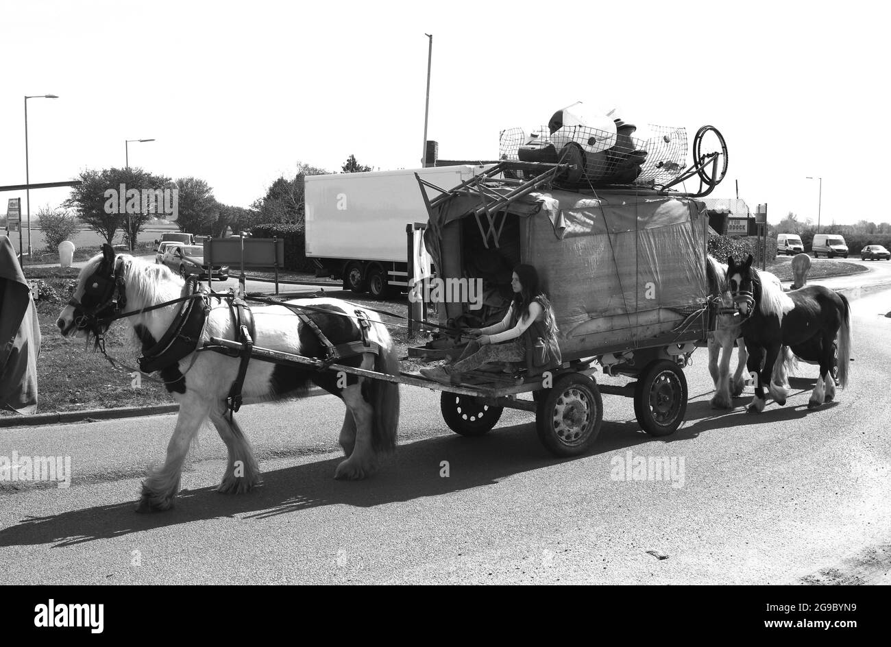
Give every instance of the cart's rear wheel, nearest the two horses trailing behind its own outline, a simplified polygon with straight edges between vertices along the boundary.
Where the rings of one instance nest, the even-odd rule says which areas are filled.
[[[680,366],[660,359],[643,369],[634,388],[634,415],[650,436],[669,436],[687,413],[687,378]]]

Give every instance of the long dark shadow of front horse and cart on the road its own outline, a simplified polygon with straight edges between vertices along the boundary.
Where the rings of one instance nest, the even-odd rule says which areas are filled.
[[[615,452],[650,437],[637,422],[604,422],[590,455]],[[266,519],[324,505],[370,507],[494,486],[500,479],[552,467],[583,456],[558,459],[548,454],[535,435],[535,425],[496,428],[482,438],[457,435],[425,438],[396,449],[372,479],[333,479],[341,457],[266,471],[261,487],[246,495],[220,495],[214,487],[183,490],[176,508],[136,514],[134,500],[99,505],[45,517],[28,517],[0,530],[0,546],[53,544],[60,548],[95,539],[125,536],[156,528],[222,517]],[[440,476],[443,462],[449,476]],[[222,476],[222,468],[220,468]]]

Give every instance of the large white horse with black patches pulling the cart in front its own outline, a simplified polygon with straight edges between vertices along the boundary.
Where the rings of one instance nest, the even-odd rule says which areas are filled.
[[[65,337],[74,336],[98,342],[110,323],[123,318],[133,332],[134,349],[155,348],[168,338],[171,323],[183,303],[147,310],[147,308],[180,299],[184,279],[166,266],[154,265],[141,258],[115,256],[110,246],[102,246],[102,254],[87,261],[80,271],[73,298],[59,315],[57,325]],[[362,340],[362,331],[351,316],[356,306],[338,299],[297,299],[290,304],[311,308],[308,317],[331,344]],[[210,298],[203,331],[196,337],[196,348],[209,338],[236,340],[238,327],[225,299]],[[323,340],[305,323],[295,309],[284,306],[250,308],[254,320],[254,343],[293,355],[326,357]],[[380,317],[363,313],[370,321],[365,332],[380,348],[379,353],[364,352],[343,358],[339,364],[350,365],[389,375],[399,374],[396,348]],[[193,438],[208,419],[213,422],[228,449],[229,460],[218,490],[225,493],[247,492],[260,481],[257,459],[248,439],[231,416],[227,416],[226,398],[230,395],[239,370],[240,359],[214,352],[192,352],[173,364],[164,366],[160,377],[168,391],[179,402],[176,429],[170,439],[167,460],[151,470],[143,482],[139,512],[167,510],[179,489],[183,463]],[[310,383],[331,392],[347,405],[340,430],[339,443],[347,455],[339,463],[338,479],[363,479],[375,469],[381,453],[396,446],[399,422],[398,384],[353,374],[338,376],[331,371],[312,367],[269,364],[251,360],[244,375],[241,393],[253,401],[299,397]]]

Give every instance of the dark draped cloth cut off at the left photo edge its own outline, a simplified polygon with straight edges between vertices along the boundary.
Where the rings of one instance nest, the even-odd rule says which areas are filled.
[[[0,235],[0,408],[37,410],[40,325],[8,236]]]

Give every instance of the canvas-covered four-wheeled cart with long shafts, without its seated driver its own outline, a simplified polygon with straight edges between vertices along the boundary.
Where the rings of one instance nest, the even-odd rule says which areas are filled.
[[[539,438],[560,456],[579,455],[593,445],[604,393],[634,398],[642,430],[670,435],[687,408],[683,367],[714,329],[707,297],[708,221],[696,198],[720,181],[726,166],[719,171],[718,163],[725,160],[726,149],[703,154],[676,174],[673,184],[699,176],[698,193],[652,184],[561,190],[560,174],[573,168],[566,163],[503,161],[453,189],[418,178],[429,212],[424,238],[437,266],[435,280],[478,280],[483,299],[476,309],[460,299],[441,303],[438,322],[424,323],[438,332],[424,346],[410,348],[410,356],[429,360],[460,352],[462,326],[500,320],[511,268],[529,263],[547,286],[560,328],[563,362],[543,375],[497,366],[445,384],[417,373],[386,375],[265,348],[253,347],[251,356],[439,390],[446,424],[463,436],[492,430],[504,408],[534,412]],[[430,200],[425,186],[437,197]],[[208,349],[234,352],[243,346],[215,338]],[[595,375],[601,371],[631,381],[600,384]],[[524,393],[532,399],[520,398]]]

